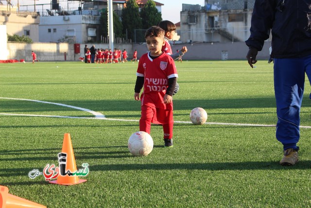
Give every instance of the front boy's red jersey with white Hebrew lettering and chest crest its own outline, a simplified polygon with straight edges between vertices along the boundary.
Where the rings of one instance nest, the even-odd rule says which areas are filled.
[[[140,57],[136,75],[144,77],[141,105],[173,110],[173,102],[165,104],[163,100],[169,78],[178,77],[172,57],[162,53],[159,57],[152,59],[150,53],[144,54]]]

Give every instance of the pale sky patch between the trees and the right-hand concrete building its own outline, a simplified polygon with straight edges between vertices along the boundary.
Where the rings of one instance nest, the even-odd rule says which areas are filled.
[[[200,4],[204,6],[204,0],[155,0],[156,2],[163,3],[162,6],[162,19],[170,20],[173,23],[180,21],[180,12],[182,10],[182,4]]]

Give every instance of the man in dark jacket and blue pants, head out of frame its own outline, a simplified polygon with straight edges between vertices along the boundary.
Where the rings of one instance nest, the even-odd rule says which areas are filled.
[[[276,139],[282,143],[281,165],[298,162],[300,107],[305,73],[311,80],[311,0],[256,0],[251,20],[247,61],[253,68],[256,56],[272,29]]]

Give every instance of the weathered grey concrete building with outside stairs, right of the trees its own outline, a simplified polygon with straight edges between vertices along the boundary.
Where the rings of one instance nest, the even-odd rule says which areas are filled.
[[[250,33],[255,0],[205,0],[205,5],[183,4],[182,42],[235,42]]]

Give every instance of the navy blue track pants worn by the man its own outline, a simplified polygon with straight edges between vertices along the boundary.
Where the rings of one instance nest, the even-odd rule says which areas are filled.
[[[284,150],[297,149],[305,73],[311,80],[311,56],[275,58],[276,139]]]

